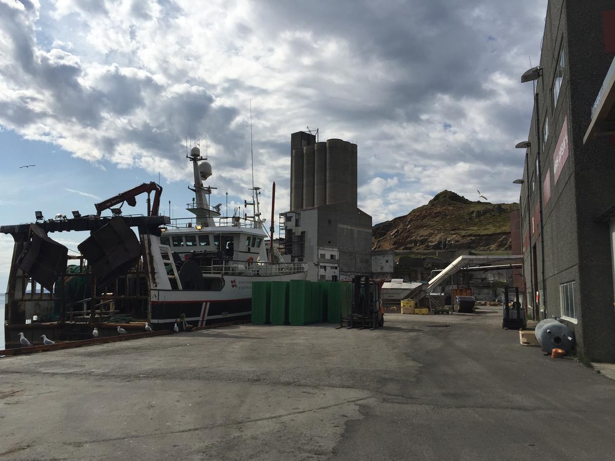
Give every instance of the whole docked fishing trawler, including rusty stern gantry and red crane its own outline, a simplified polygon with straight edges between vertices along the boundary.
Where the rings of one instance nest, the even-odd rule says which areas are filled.
[[[261,218],[261,189],[250,189],[252,201],[244,202],[243,215],[236,208],[223,216],[221,205],[210,205],[216,188],[203,183],[212,176],[211,164],[199,146],[186,158],[194,173],[189,218],[159,215],[162,187],[152,182],[96,203],[95,215],[73,211],[73,218],[44,219],[37,211],[34,223],[0,226],[15,240],[5,296],[7,342],[14,336],[10,331],[37,322],[90,328],[130,318],[172,329],[175,323],[186,328],[250,320],[252,282],[306,278],[304,263],[284,261],[271,245],[272,226],[269,233]],[[143,193],[147,215],[123,215],[122,206],[134,207]],[[105,210],[111,216],[103,216]],[[76,255],[50,237],[82,230],[90,237]]]

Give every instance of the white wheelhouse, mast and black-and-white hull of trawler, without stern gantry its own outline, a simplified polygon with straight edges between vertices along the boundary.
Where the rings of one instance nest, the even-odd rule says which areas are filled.
[[[253,187],[253,213],[221,216],[208,197],[213,187],[202,181],[212,175],[212,167],[191,149],[195,199],[186,209],[194,218],[172,219],[161,235],[141,235],[148,248],[151,323],[158,328],[184,318],[192,325],[248,318],[254,280],[293,280],[306,278],[303,263],[284,262],[275,246],[273,254],[265,245],[269,235],[260,215],[260,189]]]

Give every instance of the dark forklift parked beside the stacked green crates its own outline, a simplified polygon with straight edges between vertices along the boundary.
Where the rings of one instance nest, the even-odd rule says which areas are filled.
[[[362,280],[363,279],[363,280]],[[384,307],[380,301],[378,282],[370,281],[368,275],[357,275],[352,279],[352,302],[347,317],[341,317],[339,328],[376,329],[384,325]]]

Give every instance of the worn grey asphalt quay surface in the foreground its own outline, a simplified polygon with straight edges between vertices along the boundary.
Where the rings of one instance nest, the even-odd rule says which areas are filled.
[[[610,460],[614,429],[615,381],[495,307],[0,358],[0,460]]]

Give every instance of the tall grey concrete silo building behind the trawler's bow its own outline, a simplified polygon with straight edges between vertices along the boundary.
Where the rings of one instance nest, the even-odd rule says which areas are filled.
[[[280,213],[280,243],[308,263],[308,280],[371,274],[371,216],[357,208],[357,144],[313,133],[290,138],[290,211]]]

